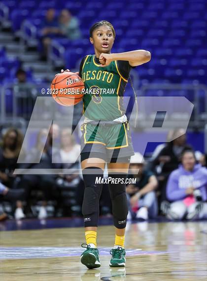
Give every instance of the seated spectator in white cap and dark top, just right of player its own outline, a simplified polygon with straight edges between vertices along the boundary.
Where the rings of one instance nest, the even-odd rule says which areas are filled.
[[[138,208],[136,212],[136,218],[138,219],[147,220],[148,217],[156,217],[158,207],[155,189],[158,182],[151,171],[144,169],[143,156],[139,153],[135,153],[131,157],[129,178],[136,179],[136,184],[128,184],[126,186],[126,192],[130,201],[128,219],[134,215],[133,209],[136,210],[136,208]]]

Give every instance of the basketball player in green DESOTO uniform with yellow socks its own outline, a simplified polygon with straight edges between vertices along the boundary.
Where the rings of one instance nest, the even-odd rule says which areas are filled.
[[[108,175],[113,179],[108,186],[115,226],[109,265],[125,266],[124,240],[128,214],[125,180],[134,150],[123,107],[123,94],[130,70],[151,58],[150,52],[145,50],[111,53],[114,39],[115,31],[109,22],[95,23],[90,29],[90,42],[94,45],[95,54],[85,56],[79,69],[85,89],[98,89],[95,94],[83,97],[85,120],[81,126],[81,167],[85,184],[82,214],[86,238],[86,244],[82,244],[86,250],[81,255],[81,263],[89,269],[101,266],[97,225],[103,183],[96,183],[96,178],[103,179],[105,163]],[[107,94],[101,89],[114,89],[114,92]]]

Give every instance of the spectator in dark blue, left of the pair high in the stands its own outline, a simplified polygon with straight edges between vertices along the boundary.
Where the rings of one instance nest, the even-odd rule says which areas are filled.
[[[55,15],[55,9],[50,8],[46,12],[45,19],[41,24],[41,37],[43,43],[43,55],[42,59],[46,59],[48,46],[50,44],[51,38],[59,36],[61,30],[59,27],[58,19]]]

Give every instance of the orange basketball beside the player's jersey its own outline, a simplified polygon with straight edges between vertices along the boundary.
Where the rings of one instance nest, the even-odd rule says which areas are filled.
[[[83,98],[83,80],[73,72],[63,72],[52,80],[51,94],[54,100],[64,106],[72,106]]]

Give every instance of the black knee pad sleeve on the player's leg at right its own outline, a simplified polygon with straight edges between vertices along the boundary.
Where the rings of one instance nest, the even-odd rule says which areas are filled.
[[[112,179],[123,179],[123,183],[122,181],[117,184],[109,182],[108,187],[112,202],[114,226],[117,228],[125,228],[127,223],[127,215],[129,211],[125,184],[127,174],[113,173],[109,174],[109,176],[112,177]]]

